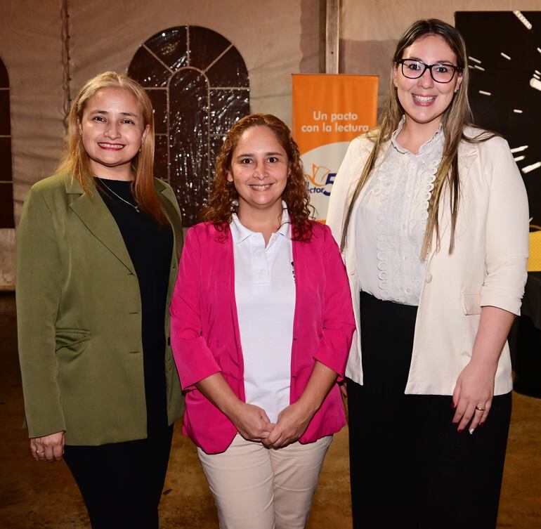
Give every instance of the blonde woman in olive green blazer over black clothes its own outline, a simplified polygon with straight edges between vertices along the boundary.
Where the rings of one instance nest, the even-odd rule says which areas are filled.
[[[72,105],[60,170],[32,186],[17,233],[32,455],[64,455],[95,529],[157,528],[181,415],[168,310],[181,217],[152,176],[153,126],[135,81],[91,79]]]

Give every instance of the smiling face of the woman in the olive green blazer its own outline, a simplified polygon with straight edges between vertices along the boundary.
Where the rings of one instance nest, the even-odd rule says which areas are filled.
[[[93,174],[132,180],[131,162],[148,129],[141,107],[130,91],[115,87],[99,89],[86,102],[79,122]]]

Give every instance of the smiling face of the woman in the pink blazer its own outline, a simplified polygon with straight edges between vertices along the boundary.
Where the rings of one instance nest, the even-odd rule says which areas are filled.
[[[246,129],[227,174],[239,195],[239,217],[255,211],[281,211],[288,173],[289,160],[275,133],[268,126]]]

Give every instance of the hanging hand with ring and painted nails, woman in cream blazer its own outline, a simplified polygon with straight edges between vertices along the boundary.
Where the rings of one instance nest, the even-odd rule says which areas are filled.
[[[496,366],[472,358],[457,379],[452,403],[456,407],[452,422],[463,431],[469,424],[469,433],[474,433],[478,424],[483,425],[490,412],[494,396]]]

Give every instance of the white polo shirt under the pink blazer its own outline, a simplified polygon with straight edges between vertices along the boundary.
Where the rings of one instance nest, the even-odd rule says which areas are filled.
[[[282,206],[280,229],[266,247],[263,234],[235,214],[230,223],[246,402],[263,408],[271,422],[289,405],[295,311],[291,225]]]

